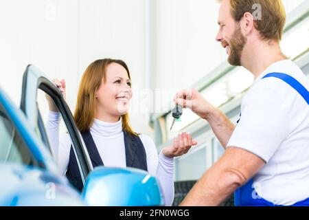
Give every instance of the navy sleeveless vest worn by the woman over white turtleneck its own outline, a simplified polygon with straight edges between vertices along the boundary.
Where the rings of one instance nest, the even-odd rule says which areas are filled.
[[[95,166],[104,166],[90,131],[83,132],[82,139],[87,147],[93,168],[95,168]],[[126,166],[148,171],[146,151],[141,139],[138,136],[130,135],[124,131],[124,147],[126,151]],[[72,146],[69,157],[69,166],[67,167],[67,173],[65,175],[76,189],[82,191],[84,186],[82,184],[82,177],[80,176],[80,170],[78,169],[78,163]]]

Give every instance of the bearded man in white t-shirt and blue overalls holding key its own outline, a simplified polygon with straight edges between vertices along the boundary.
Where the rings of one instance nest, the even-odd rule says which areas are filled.
[[[242,100],[237,126],[195,89],[176,94],[174,101],[207,120],[225,148],[181,206],[218,206],[234,191],[240,206],[309,205],[309,82],[279,47],[282,1],[220,3],[216,40],[229,63],[249,69],[255,82]]]

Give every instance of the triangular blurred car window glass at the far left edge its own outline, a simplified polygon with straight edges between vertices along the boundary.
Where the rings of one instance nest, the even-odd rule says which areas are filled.
[[[14,124],[10,120],[0,104],[0,163],[23,164],[26,166],[38,166],[38,162],[32,155],[27,144],[19,135]]]

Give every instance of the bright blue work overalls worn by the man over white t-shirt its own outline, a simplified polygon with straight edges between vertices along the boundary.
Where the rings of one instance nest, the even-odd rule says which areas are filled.
[[[262,79],[269,77],[275,77],[284,80],[284,82],[293,87],[304,98],[304,100],[306,100],[307,104],[309,105],[309,91],[295,78],[287,74],[271,73],[267,74]],[[255,192],[255,189],[253,187],[253,178],[250,179],[247,184],[238,188],[234,192],[235,206],[277,206],[271,201],[267,201],[266,199],[258,196],[257,192]],[[293,204],[293,206],[309,206],[309,198],[303,201],[299,201]]]

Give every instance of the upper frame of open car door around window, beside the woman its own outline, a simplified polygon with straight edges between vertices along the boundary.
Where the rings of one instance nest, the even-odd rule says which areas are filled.
[[[49,151],[52,152],[41,113],[38,110],[37,95],[39,90],[49,95],[56,104],[56,107],[58,107],[63,121],[65,122],[65,126],[67,127],[67,132],[71,137],[72,147],[76,155],[82,182],[85,184],[85,179],[91,170],[93,170],[93,166],[67,102],[65,102],[60,90],[45,76],[45,74],[43,74],[43,72],[34,67],[34,65],[28,65],[23,75],[21,110],[27,116],[32,129],[36,131],[38,137],[41,138],[47,148],[49,148]]]

